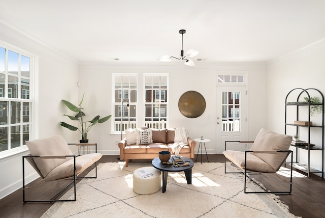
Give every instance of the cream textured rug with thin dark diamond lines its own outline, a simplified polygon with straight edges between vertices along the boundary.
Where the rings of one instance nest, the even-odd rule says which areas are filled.
[[[42,217],[295,217],[274,195],[244,194],[243,179],[224,174],[223,163],[195,163],[192,184],[183,172],[169,173],[165,193],[138,195],[132,174],[146,166],[103,163],[97,179],[77,184],[77,201],[56,202]]]

